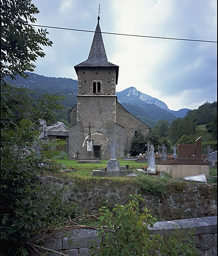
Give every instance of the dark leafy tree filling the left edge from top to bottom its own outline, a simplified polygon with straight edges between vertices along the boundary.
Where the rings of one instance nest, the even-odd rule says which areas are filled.
[[[39,175],[60,168],[51,160],[56,152],[49,150],[60,142],[41,143],[40,153],[25,152],[25,147],[39,143],[34,130],[39,118],[56,120],[55,110],[63,108],[57,103],[61,98],[45,94],[33,100],[29,90],[4,82],[5,76],[26,77],[25,71],[35,67],[31,61],[44,57],[39,44],[51,41],[45,31],[36,32],[27,24],[38,13],[31,1],[1,0],[1,11],[1,255],[27,255],[22,242],[54,221],[73,218],[75,205],[65,206],[57,190],[40,187]]]

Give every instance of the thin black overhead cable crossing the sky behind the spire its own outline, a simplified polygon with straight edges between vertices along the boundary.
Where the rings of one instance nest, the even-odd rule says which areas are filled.
[[[63,30],[73,30],[73,31],[82,31],[82,32],[92,32],[95,33],[96,31],[92,30],[82,30],[82,29],[67,29],[67,28],[60,28],[57,26],[44,26],[44,25],[34,25],[29,24],[31,26],[40,26],[42,28],[49,28],[49,29],[63,29]],[[158,38],[158,39],[169,39],[169,40],[181,40],[181,41],[194,41],[194,42],[207,42],[207,43],[217,43],[217,41],[209,41],[209,40],[196,40],[196,39],[184,39],[184,38],[165,38],[163,36],[150,36],[150,35],[133,35],[133,34],[121,34],[121,33],[111,33],[111,32],[98,32],[102,34],[112,34],[112,35],[127,35],[127,36],[137,36],[141,38]]]

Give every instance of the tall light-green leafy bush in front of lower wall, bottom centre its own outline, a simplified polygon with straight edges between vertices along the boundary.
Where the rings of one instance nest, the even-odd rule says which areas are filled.
[[[106,230],[98,229],[103,242],[97,255],[149,255],[143,254],[144,247],[152,249],[147,226],[153,226],[156,218],[146,208],[140,213],[138,200],[143,198],[131,195],[127,205],[115,205],[112,212],[100,209],[99,223]]]

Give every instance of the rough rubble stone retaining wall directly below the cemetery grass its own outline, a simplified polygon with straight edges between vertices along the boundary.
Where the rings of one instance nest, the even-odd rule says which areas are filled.
[[[165,195],[149,195],[135,186],[115,186],[108,179],[102,179],[101,185],[91,186],[85,181],[76,184],[74,180],[52,176],[42,178],[44,184],[58,187],[68,186],[64,194],[67,202],[76,202],[86,214],[97,214],[99,208],[112,209],[115,204],[125,205],[130,195],[141,194],[144,202],[140,208],[147,207],[157,220],[171,221],[183,218],[197,218],[217,215],[216,184],[181,181],[172,185]]]

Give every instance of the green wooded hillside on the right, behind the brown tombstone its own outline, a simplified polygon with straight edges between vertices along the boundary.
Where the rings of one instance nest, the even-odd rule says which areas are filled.
[[[167,151],[172,152],[174,145],[194,144],[200,136],[202,152],[207,145],[213,151],[217,150],[217,102],[206,102],[189,111],[185,117],[176,118],[171,124],[166,120],[158,120],[145,141],[150,141],[155,150],[164,143]]]

